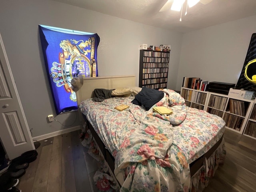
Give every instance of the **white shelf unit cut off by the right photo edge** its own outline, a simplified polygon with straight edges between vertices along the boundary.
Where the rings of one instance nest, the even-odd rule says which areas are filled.
[[[250,112],[250,116],[244,130],[244,135],[256,139],[256,100],[254,101]]]

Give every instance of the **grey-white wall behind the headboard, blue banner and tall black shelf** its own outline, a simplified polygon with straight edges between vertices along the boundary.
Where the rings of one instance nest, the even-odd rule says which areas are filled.
[[[0,32],[16,86],[33,136],[64,128],[48,123],[55,114],[52,94],[42,56],[38,25],[56,26],[98,33],[98,73],[100,76],[136,74],[138,85],[140,44],[170,44],[168,88],[176,87],[182,34],[116,18],[51,0],[4,0],[0,5]],[[56,117],[66,125],[74,122],[74,112]],[[78,125],[78,120],[72,126]]]

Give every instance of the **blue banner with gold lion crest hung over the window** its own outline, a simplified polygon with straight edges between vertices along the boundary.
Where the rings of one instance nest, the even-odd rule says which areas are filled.
[[[83,34],[84,33],[84,34]],[[77,109],[73,77],[97,77],[98,34],[39,25],[42,51],[56,113]]]

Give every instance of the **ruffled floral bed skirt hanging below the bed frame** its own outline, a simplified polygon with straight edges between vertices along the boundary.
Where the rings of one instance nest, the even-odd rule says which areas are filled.
[[[102,154],[96,140],[94,139],[91,131],[84,127],[81,133],[81,142],[83,146],[89,148],[88,154],[101,162],[101,168],[94,175],[94,182],[100,192],[103,191],[119,191],[120,184],[116,180],[113,174],[113,170],[106,162],[105,154]],[[226,156],[226,148],[224,145],[224,138],[218,148],[212,153],[210,157],[204,158],[204,163],[201,168],[190,179],[190,192],[201,192],[206,186],[208,186],[210,178],[214,176],[219,164],[224,163]]]

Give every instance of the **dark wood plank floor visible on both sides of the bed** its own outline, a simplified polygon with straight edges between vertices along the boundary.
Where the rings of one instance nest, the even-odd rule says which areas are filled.
[[[18,188],[22,192],[97,192],[93,175],[99,165],[87,154],[78,131],[40,141]],[[224,134],[225,164],[219,166],[205,192],[256,192],[256,140],[231,130]]]

